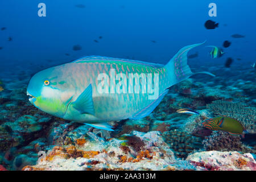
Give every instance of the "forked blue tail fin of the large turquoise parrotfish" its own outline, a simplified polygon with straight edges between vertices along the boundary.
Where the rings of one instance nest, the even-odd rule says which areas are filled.
[[[177,52],[176,55],[172,57],[172,59],[166,65],[164,65],[163,68],[166,69],[167,76],[170,81],[170,86],[177,84],[178,82],[183,81],[191,77],[192,75],[197,74],[192,73],[191,69],[187,64],[187,53],[190,49],[201,46],[205,42],[181,48],[180,51]],[[209,72],[198,73],[204,73],[210,76],[214,76],[212,73]]]

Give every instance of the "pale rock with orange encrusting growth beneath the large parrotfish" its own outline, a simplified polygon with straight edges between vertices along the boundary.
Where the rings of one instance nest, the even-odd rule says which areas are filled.
[[[89,150],[100,148],[98,146],[101,144],[93,140],[88,140],[80,149],[72,145],[65,148],[55,146],[45,159],[35,166],[23,167],[23,170],[168,170],[170,166],[175,169],[174,154],[158,131],[133,131],[125,139],[130,150],[119,150],[123,140],[117,139],[105,142],[104,147],[98,151]],[[134,139],[140,140],[143,147],[135,150],[134,143],[131,143]],[[94,147],[95,144],[97,147]]]

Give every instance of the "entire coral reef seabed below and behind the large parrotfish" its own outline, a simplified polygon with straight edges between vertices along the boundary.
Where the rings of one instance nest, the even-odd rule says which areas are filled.
[[[201,69],[217,76],[195,75],[171,86],[147,117],[109,122],[114,131],[65,121],[32,106],[27,72],[1,77],[0,170],[255,169],[255,71],[242,65],[236,68],[239,74],[217,66],[193,72]],[[200,114],[176,113],[181,108]],[[219,115],[236,118],[250,134],[241,138],[201,126]],[[43,151],[46,158],[38,161]]]

